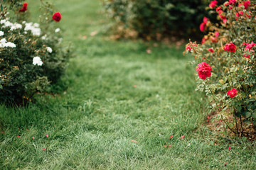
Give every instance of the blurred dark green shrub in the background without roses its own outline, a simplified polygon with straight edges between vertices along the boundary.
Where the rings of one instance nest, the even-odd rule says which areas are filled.
[[[209,1],[206,0],[105,0],[104,6],[117,26],[134,29],[139,37],[159,35],[201,35],[199,25]]]

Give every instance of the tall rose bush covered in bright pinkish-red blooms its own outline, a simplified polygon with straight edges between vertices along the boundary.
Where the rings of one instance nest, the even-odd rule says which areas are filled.
[[[256,1],[211,1],[209,6],[220,22],[203,21],[200,28],[208,33],[201,44],[186,46],[186,52],[194,55],[193,63],[201,63],[196,69],[196,90],[206,92],[210,111],[217,111],[231,132],[252,137],[256,132]]]

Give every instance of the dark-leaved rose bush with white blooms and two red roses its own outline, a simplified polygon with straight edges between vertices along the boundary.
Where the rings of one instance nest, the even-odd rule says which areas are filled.
[[[39,23],[27,21],[29,5],[0,1],[0,102],[22,105],[50,91],[65,73],[70,50],[61,46],[60,12],[41,1]],[[13,12],[15,15],[9,15]],[[44,18],[44,19],[43,19]]]

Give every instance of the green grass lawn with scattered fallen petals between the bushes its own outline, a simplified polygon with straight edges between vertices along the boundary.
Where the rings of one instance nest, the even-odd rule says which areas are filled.
[[[143,42],[109,40],[99,1],[54,4],[75,49],[68,89],[26,108],[0,106],[1,169],[255,169],[255,147],[201,125],[206,103],[182,50],[159,45],[149,55]]]

